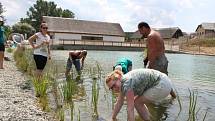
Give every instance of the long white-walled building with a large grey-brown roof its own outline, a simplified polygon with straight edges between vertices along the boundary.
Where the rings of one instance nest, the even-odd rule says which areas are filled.
[[[125,33],[118,23],[75,20],[72,18],[43,16],[48,32],[55,44],[59,40],[87,40],[124,42]]]

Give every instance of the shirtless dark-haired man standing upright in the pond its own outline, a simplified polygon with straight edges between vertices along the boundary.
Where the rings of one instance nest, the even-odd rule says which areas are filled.
[[[161,35],[152,30],[146,22],[138,24],[138,30],[146,40],[147,57],[144,63],[148,62],[148,68],[159,70],[168,74],[168,60],[165,56],[165,46]]]

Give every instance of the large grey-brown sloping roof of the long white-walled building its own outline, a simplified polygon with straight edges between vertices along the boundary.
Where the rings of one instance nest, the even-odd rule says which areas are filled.
[[[76,20],[72,18],[43,16],[49,32],[125,36],[119,23]]]

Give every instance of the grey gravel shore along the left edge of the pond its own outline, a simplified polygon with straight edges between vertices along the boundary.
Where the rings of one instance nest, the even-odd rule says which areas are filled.
[[[5,55],[11,61],[4,61],[4,69],[0,69],[0,121],[55,120],[38,107],[32,88],[23,88],[27,79],[16,68],[12,54],[5,52]]]

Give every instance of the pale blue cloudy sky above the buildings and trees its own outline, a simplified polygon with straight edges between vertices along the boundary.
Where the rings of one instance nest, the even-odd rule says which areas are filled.
[[[141,21],[152,28],[179,27],[195,32],[203,22],[215,23],[215,0],[47,0],[75,13],[75,19],[119,23],[134,32]],[[36,0],[0,0],[7,25],[25,18]]]

